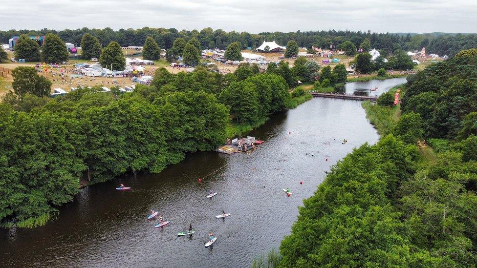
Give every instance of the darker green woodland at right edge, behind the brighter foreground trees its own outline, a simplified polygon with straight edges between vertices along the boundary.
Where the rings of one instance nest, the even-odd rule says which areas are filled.
[[[408,78],[402,110],[421,115],[428,137],[464,139],[477,134],[477,126],[461,132],[464,125],[476,124],[472,116],[477,111],[476,70],[477,49],[428,66]]]

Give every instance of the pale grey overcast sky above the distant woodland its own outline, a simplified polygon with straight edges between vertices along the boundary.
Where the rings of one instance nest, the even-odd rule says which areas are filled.
[[[0,30],[477,32],[477,0],[0,0]]]

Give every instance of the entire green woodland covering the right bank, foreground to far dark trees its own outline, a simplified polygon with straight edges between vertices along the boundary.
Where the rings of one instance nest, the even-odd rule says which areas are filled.
[[[279,266],[476,267],[476,70],[469,50],[410,77],[390,134],[354,149],[304,200]],[[423,139],[434,158],[418,151]]]

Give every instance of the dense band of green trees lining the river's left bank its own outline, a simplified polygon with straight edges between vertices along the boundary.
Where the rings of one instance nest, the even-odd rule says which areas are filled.
[[[259,124],[290,100],[278,74],[239,79],[203,67],[178,74],[159,68],[152,85],[137,85],[132,93],[98,86],[56,99],[40,97],[35,86],[25,90],[16,78],[15,94],[0,103],[3,226],[44,221],[72,200],[80,178],[94,184],[130,171],[160,172],[185,153],[211,150],[236,125]]]

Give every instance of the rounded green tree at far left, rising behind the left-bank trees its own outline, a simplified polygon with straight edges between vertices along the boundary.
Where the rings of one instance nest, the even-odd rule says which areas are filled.
[[[22,98],[25,94],[33,94],[38,97],[49,96],[51,82],[44,76],[37,74],[33,67],[20,66],[12,71],[13,91]]]

